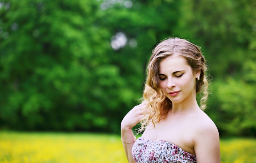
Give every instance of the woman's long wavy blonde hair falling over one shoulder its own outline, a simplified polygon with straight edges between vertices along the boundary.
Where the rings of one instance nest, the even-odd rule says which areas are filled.
[[[155,126],[155,123],[166,118],[168,111],[172,109],[171,100],[166,97],[164,90],[160,88],[158,75],[159,62],[170,55],[184,57],[193,71],[201,71],[200,80],[196,81],[195,90],[196,93],[201,94],[200,108],[202,110],[206,108],[209,84],[206,75],[206,60],[200,47],[181,38],[167,38],[155,47],[148,63],[146,84],[141,98],[141,101],[145,101],[148,106],[144,112],[145,117],[140,121],[139,133],[145,130],[149,121],[152,121]]]

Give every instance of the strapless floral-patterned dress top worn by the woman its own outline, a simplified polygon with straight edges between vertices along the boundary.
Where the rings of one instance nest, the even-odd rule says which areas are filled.
[[[138,138],[132,146],[136,163],[196,163],[192,154],[167,141]]]

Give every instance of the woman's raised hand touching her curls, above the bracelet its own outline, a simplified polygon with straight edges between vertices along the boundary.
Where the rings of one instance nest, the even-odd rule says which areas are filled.
[[[131,129],[144,117],[144,109],[147,106],[146,102],[135,106],[130,110],[121,122],[121,129]]]

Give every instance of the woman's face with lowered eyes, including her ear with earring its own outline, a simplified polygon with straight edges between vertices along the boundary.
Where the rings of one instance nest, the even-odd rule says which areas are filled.
[[[180,55],[171,55],[159,62],[159,84],[173,104],[194,100],[197,76],[200,71],[195,73]]]

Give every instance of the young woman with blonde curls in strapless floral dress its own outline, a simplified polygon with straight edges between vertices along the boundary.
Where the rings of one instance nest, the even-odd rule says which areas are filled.
[[[121,122],[129,163],[220,163],[219,133],[204,113],[207,66],[200,48],[168,38],[153,50],[143,102]],[[196,94],[201,93],[200,107]],[[132,127],[141,123],[137,140]]]

